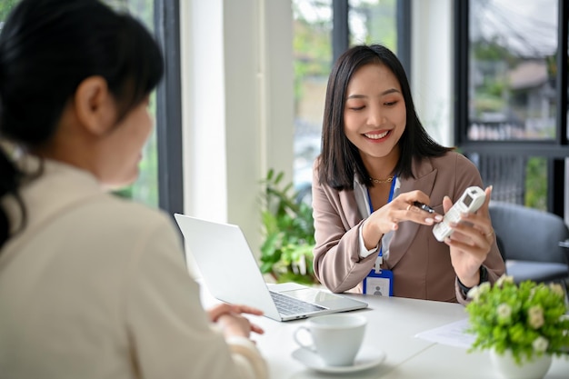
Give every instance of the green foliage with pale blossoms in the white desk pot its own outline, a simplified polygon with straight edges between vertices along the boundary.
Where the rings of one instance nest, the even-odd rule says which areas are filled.
[[[543,354],[561,355],[569,347],[569,317],[565,314],[564,290],[560,284],[517,285],[502,276],[494,285],[474,287],[466,305],[469,333],[475,334],[469,351],[511,351],[516,364]]]

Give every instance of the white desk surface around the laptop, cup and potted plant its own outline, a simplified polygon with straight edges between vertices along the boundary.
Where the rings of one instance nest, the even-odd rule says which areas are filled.
[[[467,317],[464,306],[424,300],[349,294],[369,304],[353,311],[367,317],[365,345],[376,346],[386,354],[383,364],[351,374],[322,374],[307,369],[291,354],[298,347],[294,329],[305,320],[280,323],[266,317],[251,316],[265,334],[254,335],[269,364],[272,379],[314,378],[498,378],[487,353],[466,353],[464,348],[435,344],[414,335]],[[212,303],[205,294],[205,304]],[[548,379],[569,379],[569,358],[554,358]]]

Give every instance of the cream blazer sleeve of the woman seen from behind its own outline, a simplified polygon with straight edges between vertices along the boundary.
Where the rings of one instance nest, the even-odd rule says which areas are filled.
[[[225,340],[210,323],[187,271],[174,226],[146,231],[125,281],[125,323],[136,370],[145,378],[267,377],[247,338]]]

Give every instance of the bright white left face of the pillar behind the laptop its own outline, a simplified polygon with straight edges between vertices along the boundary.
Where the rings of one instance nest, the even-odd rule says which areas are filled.
[[[185,214],[225,221],[223,2],[180,5]]]

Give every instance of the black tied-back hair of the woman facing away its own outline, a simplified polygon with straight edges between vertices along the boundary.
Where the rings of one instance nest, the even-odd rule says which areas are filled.
[[[145,27],[98,0],[23,0],[0,33],[0,139],[25,148],[50,141],[65,104],[85,78],[105,78],[119,120],[160,81],[162,53]],[[118,121],[118,120],[117,120]],[[0,147],[0,199],[25,177]],[[10,222],[0,207],[0,246]]]

